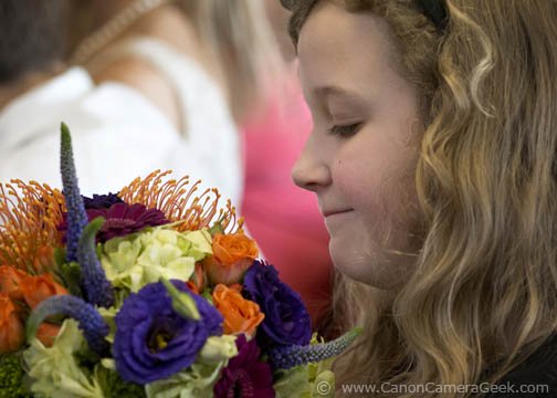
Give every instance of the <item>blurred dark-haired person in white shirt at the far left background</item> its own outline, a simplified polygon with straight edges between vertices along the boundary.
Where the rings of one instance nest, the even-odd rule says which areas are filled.
[[[176,128],[127,85],[64,63],[67,2],[0,3],[0,181],[61,186],[60,123],[73,130],[83,193],[115,191],[180,160]]]

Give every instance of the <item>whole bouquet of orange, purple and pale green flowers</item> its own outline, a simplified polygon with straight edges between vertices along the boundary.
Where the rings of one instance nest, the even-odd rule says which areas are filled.
[[[299,295],[258,260],[230,201],[155,171],[80,195],[0,185],[0,397],[327,397],[330,360]]]

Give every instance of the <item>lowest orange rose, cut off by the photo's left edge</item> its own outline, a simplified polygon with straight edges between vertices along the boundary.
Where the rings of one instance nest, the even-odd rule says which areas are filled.
[[[6,292],[0,292],[0,355],[17,350],[23,344],[25,329],[15,304]]]

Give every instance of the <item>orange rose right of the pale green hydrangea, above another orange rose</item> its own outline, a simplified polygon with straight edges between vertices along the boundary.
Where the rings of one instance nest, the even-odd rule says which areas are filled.
[[[231,285],[240,282],[244,272],[259,255],[253,239],[242,231],[231,234],[217,233],[212,242],[213,255],[203,260],[211,283]]]

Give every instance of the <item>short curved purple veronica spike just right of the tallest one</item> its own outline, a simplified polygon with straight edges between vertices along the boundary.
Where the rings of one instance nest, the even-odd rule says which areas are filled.
[[[97,306],[109,307],[114,303],[114,291],[95,251],[95,234],[104,221],[102,217],[97,217],[85,227],[77,247],[77,260],[82,271],[85,300]]]

